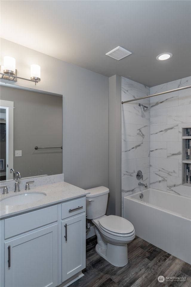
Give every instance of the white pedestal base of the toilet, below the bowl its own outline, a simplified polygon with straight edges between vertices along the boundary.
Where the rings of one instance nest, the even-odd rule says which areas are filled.
[[[113,245],[107,243],[107,248],[102,248],[96,244],[96,252],[116,267],[123,267],[128,263],[127,244]]]

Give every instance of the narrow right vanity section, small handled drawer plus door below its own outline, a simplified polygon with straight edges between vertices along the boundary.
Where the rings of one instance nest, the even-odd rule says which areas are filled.
[[[61,205],[62,282],[86,266],[86,201],[74,199]]]

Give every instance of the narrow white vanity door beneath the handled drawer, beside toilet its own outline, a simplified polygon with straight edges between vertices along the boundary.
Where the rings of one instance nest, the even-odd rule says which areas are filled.
[[[86,266],[85,213],[62,222],[62,282]]]

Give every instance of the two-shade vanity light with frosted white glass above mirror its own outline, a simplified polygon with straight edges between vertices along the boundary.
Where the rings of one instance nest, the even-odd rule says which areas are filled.
[[[36,85],[41,80],[41,67],[39,65],[31,65],[30,79],[17,77],[16,60],[13,57],[5,56],[3,73],[0,74],[2,75],[1,78],[5,80],[16,81],[15,79],[21,79],[34,82]]]

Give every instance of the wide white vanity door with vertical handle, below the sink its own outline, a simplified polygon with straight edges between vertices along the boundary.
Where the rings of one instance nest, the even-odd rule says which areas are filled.
[[[55,287],[57,270],[57,224],[6,241],[5,287]]]

